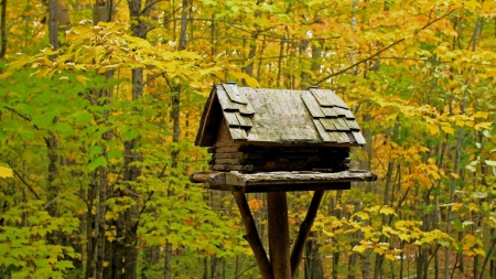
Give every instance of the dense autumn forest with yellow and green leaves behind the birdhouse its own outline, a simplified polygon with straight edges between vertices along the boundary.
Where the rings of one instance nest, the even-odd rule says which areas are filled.
[[[495,1],[0,2],[0,278],[260,278],[188,181],[228,81],[333,89],[367,140],[378,180],[325,193],[296,278],[496,278]]]

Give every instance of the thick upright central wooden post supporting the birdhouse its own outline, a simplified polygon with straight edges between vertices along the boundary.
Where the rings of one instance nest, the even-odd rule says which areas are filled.
[[[291,278],[288,202],[285,192],[267,193],[269,254],[274,279]]]

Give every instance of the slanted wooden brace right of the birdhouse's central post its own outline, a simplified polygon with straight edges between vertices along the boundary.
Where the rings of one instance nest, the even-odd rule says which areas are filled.
[[[315,193],[313,193],[312,202],[310,202],[305,219],[300,225],[300,230],[298,232],[298,236],[293,245],[293,250],[291,251],[291,278],[294,278],[294,276],[296,275],[298,267],[300,266],[303,258],[305,243],[309,238],[310,230],[312,229],[313,222],[315,221],[323,196],[324,191],[315,191]]]

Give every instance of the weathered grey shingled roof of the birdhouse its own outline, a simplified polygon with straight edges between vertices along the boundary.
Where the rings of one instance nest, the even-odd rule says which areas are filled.
[[[348,106],[328,89],[215,85],[205,104],[195,143],[214,146],[223,118],[235,141],[343,147],[366,143]]]

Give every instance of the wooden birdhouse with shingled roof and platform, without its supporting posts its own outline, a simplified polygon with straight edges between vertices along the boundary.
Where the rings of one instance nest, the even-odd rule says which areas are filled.
[[[349,189],[363,174],[347,171],[349,148],[366,142],[355,116],[332,90],[228,83],[214,86],[195,143],[209,148],[211,169],[219,172],[211,175],[212,189],[273,192]],[[336,173],[342,178],[330,184]]]

